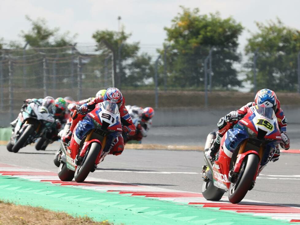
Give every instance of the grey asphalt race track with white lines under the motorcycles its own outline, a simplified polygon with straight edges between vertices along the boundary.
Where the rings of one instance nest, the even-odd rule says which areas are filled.
[[[296,126],[290,126],[296,130]],[[195,127],[152,128],[143,143],[203,144],[206,132],[212,128]],[[177,132],[182,131],[182,132]],[[167,132],[169,133],[167,135]],[[170,135],[171,133],[171,135]],[[172,135],[176,134],[176,135]],[[299,142],[296,132],[290,132],[292,146]],[[200,137],[197,139],[197,136]],[[299,145],[298,145],[299,146]],[[28,146],[19,153],[10,153],[0,147],[1,163],[25,168],[57,171],[52,162],[58,144],[46,151]],[[295,148],[295,147],[294,147]],[[299,149],[299,148],[297,148]],[[300,154],[281,154],[279,161],[270,162],[258,177],[254,189],[245,198],[275,204],[300,207]],[[108,155],[90,177],[147,185],[160,188],[201,192],[203,152],[166,150],[125,150],[120,156]]]

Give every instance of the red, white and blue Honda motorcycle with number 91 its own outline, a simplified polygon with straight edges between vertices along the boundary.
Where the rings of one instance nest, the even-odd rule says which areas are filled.
[[[75,178],[76,182],[83,182],[104,160],[122,133],[118,106],[111,101],[98,103],[77,126],[80,123],[91,129],[81,140],[78,152],[70,151],[65,143],[60,142],[58,177],[61,181]]]

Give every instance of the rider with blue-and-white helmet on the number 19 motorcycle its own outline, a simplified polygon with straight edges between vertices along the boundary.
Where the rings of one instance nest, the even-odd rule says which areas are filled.
[[[215,158],[215,154],[220,148],[220,143],[223,135],[232,127],[230,127],[229,123],[240,120],[243,116],[247,114],[247,110],[254,106],[264,104],[266,107],[272,107],[274,109],[275,115],[277,117],[282,142],[280,146],[288,150],[290,148],[290,139],[287,136],[287,118],[285,117],[283,110],[280,108],[280,102],[277,99],[277,96],[274,91],[269,89],[262,89],[257,92],[254,102],[249,102],[247,105],[244,105],[237,111],[229,112],[226,116],[221,117],[217,126],[218,132],[216,139],[213,140],[212,147],[208,151],[206,151],[206,156],[210,159]],[[279,159],[280,150],[278,146],[276,147],[275,154],[271,158],[272,162],[275,162]]]

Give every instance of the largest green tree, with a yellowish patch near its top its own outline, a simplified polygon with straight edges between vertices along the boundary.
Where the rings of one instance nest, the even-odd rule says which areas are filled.
[[[237,54],[238,37],[243,27],[232,17],[222,19],[219,13],[201,15],[199,9],[181,6],[182,12],[172,20],[167,32],[169,84],[199,87],[204,80],[204,59],[213,51],[213,86],[240,86],[233,63]],[[161,52],[162,53],[162,52]]]

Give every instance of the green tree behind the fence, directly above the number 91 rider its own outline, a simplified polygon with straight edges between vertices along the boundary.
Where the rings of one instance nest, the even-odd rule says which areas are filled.
[[[151,57],[145,54],[138,55],[139,42],[132,44],[126,42],[130,36],[130,33],[125,33],[124,28],[121,32],[98,30],[93,34],[100,50],[106,52],[106,54],[107,51],[113,54],[113,69],[116,86],[118,87],[123,84],[127,86],[142,85],[144,79],[149,77],[152,72],[149,69]],[[121,61],[119,61],[119,58]],[[120,66],[118,73],[117,64]]]

